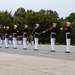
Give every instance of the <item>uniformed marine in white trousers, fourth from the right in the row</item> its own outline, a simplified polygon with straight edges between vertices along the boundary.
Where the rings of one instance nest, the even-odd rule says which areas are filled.
[[[23,50],[27,50],[27,34],[28,34],[28,25],[25,25],[23,29]]]

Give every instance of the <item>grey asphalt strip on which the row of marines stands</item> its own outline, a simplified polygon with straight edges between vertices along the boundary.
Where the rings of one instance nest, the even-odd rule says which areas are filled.
[[[5,45],[3,44],[2,48],[0,48],[0,52],[64,60],[75,60],[75,46],[71,46],[71,53],[65,53],[66,45],[56,45],[56,52],[50,52],[50,45],[39,45],[38,48],[38,51],[35,51],[34,46],[28,44],[27,50],[23,50],[23,45],[17,45],[17,49],[13,49],[13,45],[9,44],[9,48],[6,49]]]

